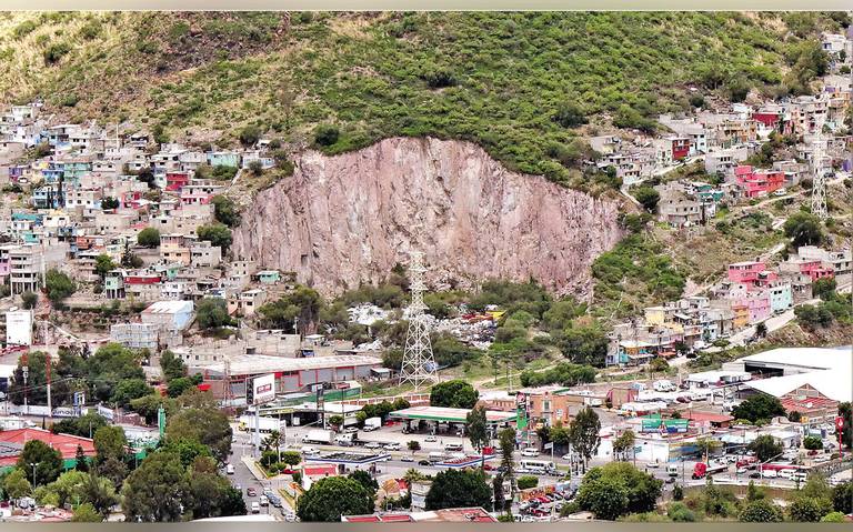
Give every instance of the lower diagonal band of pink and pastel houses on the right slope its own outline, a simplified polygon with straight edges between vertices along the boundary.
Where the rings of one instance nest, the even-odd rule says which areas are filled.
[[[643,317],[618,324],[610,333],[608,365],[640,365],[680,350],[699,349],[813,298],[819,279],[853,274],[851,250],[804,245],[771,269],[763,261],[729,264],[726,279],[709,297],[695,295],[648,307]]]

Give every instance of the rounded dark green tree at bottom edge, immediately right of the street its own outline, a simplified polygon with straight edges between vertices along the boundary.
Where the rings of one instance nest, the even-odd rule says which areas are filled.
[[[297,515],[302,522],[337,523],[341,515],[373,512],[373,499],[357,480],[329,476],[314,482],[297,500]]]

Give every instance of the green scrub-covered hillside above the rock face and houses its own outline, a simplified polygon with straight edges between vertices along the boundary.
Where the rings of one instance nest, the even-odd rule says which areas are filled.
[[[806,91],[803,38],[836,27],[820,13],[6,13],[0,93],[160,140],[234,141],[247,124],[298,148],[332,126],[327,154],[471,140],[512,171],[589,189],[579,135],[652,129],[692,86],[709,102]]]

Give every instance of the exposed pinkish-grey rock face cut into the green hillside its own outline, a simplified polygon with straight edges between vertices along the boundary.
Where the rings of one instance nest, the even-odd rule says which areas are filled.
[[[395,138],[302,154],[244,212],[233,251],[327,293],[379,282],[418,249],[436,285],[532,277],[588,295],[590,264],[622,238],[618,208],[513,173],[469,142]]]

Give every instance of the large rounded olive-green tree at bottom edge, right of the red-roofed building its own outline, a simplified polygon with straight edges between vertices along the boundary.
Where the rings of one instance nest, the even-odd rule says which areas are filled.
[[[121,490],[121,505],[128,521],[180,521],[183,508],[190,506],[185,471],[175,454],[157,452],[145,458]]]

